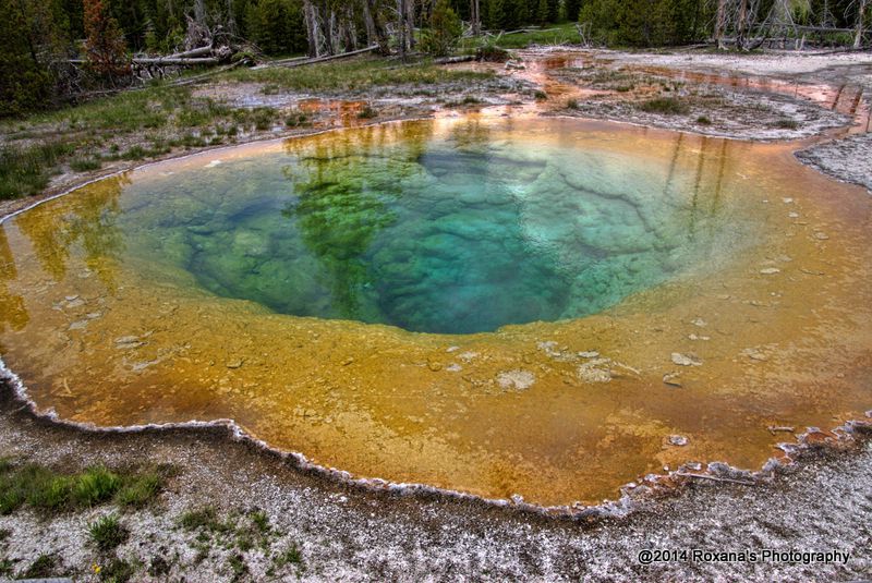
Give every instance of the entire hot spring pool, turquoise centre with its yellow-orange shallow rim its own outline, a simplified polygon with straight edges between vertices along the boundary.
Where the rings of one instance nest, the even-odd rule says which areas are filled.
[[[869,409],[869,218],[783,145],[524,118],[325,133],[3,222],[0,350],[62,418],[232,418],[360,477],[591,502],[683,461],[759,467],[767,427]]]

